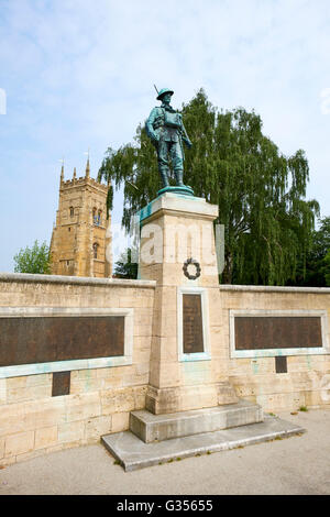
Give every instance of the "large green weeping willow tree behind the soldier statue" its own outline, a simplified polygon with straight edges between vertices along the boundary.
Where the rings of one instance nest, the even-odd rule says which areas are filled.
[[[262,132],[262,120],[243,108],[218,111],[201,89],[183,119],[193,148],[186,152],[184,183],[195,196],[219,206],[224,224],[222,283],[284,285],[294,280],[297,257],[306,256],[316,200],[307,201],[309,167],[304,151],[284,156]],[[134,142],[108,148],[99,170],[119,188],[124,184],[123,226],[161,188],[155,148],[143,127]],[[172,178],[170,183],[174,179]],[[108,204],[112,207],[112,188]]]

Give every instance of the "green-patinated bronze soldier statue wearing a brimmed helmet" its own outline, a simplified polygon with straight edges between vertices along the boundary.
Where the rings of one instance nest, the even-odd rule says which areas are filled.
[[[163,88],[158,92],[157,100],[162,101],[162,106],[152,110],[145,123],[146,133],[157,150],[158,170],[163,188],[169,187],[168,156],[172,160],[176,185],[178,187],[186,187],[183,183],[185,160],[183,142],[189,148],[193,145],[185,130],[180,113],[169,105],[173,94],[174,91],[168,88]]]

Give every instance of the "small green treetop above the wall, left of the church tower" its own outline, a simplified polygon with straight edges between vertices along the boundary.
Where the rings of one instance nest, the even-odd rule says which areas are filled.
[[[32,248],[21,249],[13,257],[15,273],[51,273],[50,248],[45,242],[34,242]]]

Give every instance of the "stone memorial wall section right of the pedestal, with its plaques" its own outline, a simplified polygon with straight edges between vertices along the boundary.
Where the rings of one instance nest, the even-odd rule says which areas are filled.
[[[330,289],[220,286],[230,381],[266,411],[330,406]]]

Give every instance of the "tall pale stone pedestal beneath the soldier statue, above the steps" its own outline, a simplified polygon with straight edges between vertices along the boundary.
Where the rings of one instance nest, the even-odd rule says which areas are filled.
[[[157,282],[146,395],[156,415],[238,402],[220,338],[217,217],[218,206],[170,193],[141,211],[140,277]]]

